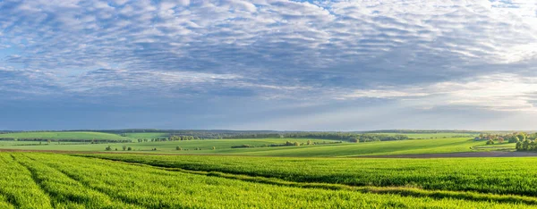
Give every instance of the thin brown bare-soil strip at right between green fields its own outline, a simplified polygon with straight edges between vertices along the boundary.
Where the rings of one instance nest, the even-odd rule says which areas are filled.
[[[533,152],[466,152],[466,153],[444,153],[444,154],[410,154],[410,155],[367,155],[354,156],[357,158],[448,158],[448,157],[524,157],[537,156]]]

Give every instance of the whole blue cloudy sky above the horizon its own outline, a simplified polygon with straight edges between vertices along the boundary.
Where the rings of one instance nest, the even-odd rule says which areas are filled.
[[[535,0],[0,0],[0,130],[537,130]]]

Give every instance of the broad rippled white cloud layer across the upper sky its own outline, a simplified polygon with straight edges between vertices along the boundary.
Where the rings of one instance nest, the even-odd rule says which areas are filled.
[[[65,94],[227,89],[260,98],[444,96],[444,104],[532,108],[524,94],[535,86],[516,79],[537,70],[529,64],[537,59],[534,1],[73,0],[0,9],[2,45],[18,49],[6,66],[50,73],[46,87]],[[100,68],[123,70],[83,73]],[[40,77],[17,77],[40,81],[32,78]]]

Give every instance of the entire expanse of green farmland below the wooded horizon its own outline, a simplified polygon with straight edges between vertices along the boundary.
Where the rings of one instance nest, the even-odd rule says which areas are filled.
[[[3,134],[18,138],[0,141],[0,207],[537,208],[537,158],[389,158],[515,153],[514,143],[453,134],[371,142]],[[86,141],[97,136],[117,140]]]

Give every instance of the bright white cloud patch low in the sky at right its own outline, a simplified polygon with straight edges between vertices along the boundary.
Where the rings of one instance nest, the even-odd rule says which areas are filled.
[[[416,108],[473,106],[495,111],[537,112],[537,77],[493,74],[424,87],[356,90],[343,98],[387,98]]]

